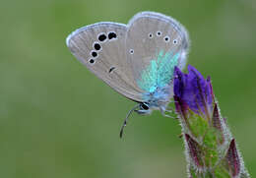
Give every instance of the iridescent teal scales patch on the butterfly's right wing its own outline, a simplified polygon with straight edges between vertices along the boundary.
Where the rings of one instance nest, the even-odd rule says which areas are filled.
[[[150,65],[142,72],[141,79],[137,81],[138,86],[147,91],[154,92],[156,89],[164,88],[170,84],[173,78],[174,67],[178,65],[179,52],[174,54],[164,53],[163,50],[153,59]]]

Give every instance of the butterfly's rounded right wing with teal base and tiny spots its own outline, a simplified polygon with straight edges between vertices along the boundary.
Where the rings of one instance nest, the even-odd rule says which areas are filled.
[[[153,92],[172,85],[174,66],[183,68],[188,34],[175,20],[153,12],[134,16],[128,24],[126,55],[140,89]]]

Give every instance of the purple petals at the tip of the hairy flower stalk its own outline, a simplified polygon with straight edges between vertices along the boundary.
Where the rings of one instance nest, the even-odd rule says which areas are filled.
[[[197,114],[210,117],[213,111],[213,89],[210,78],[207,80],[192,66],[188,66],[188,74],[177,67],[174,70],[174,99],[177,111],[184,112],[188,108]],[[180,110],[181,109],[181,110]]]

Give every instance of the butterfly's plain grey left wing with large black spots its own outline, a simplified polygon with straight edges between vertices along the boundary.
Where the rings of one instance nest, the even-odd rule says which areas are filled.
[[[124,96],[141,101],[125,58],[126,25],[97,23],[72,32],[67,46],[99,79]]]

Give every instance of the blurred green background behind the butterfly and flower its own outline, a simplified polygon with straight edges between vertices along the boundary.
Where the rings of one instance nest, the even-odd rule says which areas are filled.
[[[211,75],[251,175],[256,174],[255,0],[10,0],[0,7],[0,177],[186,177],[177,120],[134,105],[70,53],[66,36],[157,11],[190,33],[189,63]]]

